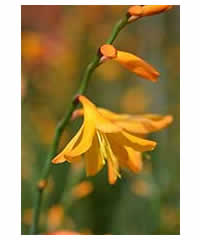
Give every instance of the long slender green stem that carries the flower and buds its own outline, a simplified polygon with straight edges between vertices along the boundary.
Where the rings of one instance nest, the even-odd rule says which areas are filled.
[[[125,16],[122,18],[119,22],[116,23],[114,26],[110,37],[106,41],[107,44],[112,44],[116,37],[118,36],[119,32],[128,24],[128,17]],[[94,72],[94,70],[99,66],[100,63],[100,54],[96,54],[94,58],[92,59],[91,63],[87,66],[83,78],[80,83],[79,90],[77,91],[78,94],[84,94],[85,90],[87,89],[89,79]],[[63,130],[65,129],[66,125],[70,121],[71,115],[73,111],[76,109],[78,105],[77,101],[72,101],[67,113],[65,114],[64,118],[61,120],[61,122],[58,123],[56,130],[55,130],[55,135],[52,143],[51,150],[48,154],[48,157],[46,159],[46,163],[44,166],[44,169],[42,171],[42,176],[39,180],[39,184],[37,186],[37,192],[36,192],[36,197],[35,197],[35,203],[34,203],[34,208],[33,208],[33,223],[31,226],[30,234],[37,234],[38,233],[38,224],[39,224],[39,219],[40,219],[40,211],[41,211],[41,201],[42,201],[42,195],[44,192],[44,189],[46,188],[47,185],[47,180],[48,176],[52,167],[51,160],[55,155],[57,154],[57,149],[58,149],[58,144],[60,141],[60,138],[62,136]],[[45,183],[44,185],[40,185],[40,183],[43,182]]]

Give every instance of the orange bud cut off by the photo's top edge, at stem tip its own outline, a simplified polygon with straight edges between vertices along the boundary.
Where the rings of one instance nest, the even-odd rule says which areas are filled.
[[[130,15],[129,22],[140,17],[166,12],[171,8],[172,5],[133,5],[128,9],[128,14]]]

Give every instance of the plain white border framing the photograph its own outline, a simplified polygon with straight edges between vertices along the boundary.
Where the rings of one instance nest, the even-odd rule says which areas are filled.
[[[199,239],[200,79],[198,1],[30,0],[1,3],[1,218],[2,239],[66,239],[67,236],[20,236],[20,5],[181,5],[181,236],[70,236],[70,239]]]

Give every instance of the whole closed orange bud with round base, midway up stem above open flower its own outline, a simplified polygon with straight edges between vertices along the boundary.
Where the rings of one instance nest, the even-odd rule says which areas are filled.
[[[142,58],[139,58],[131,53],[119,51],[110,44],[104,44],[101,46],[100,53],[103,56],[101,59],[102,61],[112,59],[120,63],[129,71],[140,77],[151,80],[152,82],[156,82],[157,78],[160,76],[159,72]]]

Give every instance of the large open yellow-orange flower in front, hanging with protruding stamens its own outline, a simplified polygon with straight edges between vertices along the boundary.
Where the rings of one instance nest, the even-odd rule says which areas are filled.
[[[138,160],[138,154],[153,150],[156,142],[126,131],[106,116],[109,111],[105,113],[103,110],[103,113],[98,110],[86,97],[78,96],[77,100],[83,105],[83,124],[52,162],[73,162],[80,160],[84,154],[88,176],[97,174],[107,162],[110,184],[114,184],[117,177],[120,177],[120,166],[128,167],[134,172],[140,171],[142,162]]]

